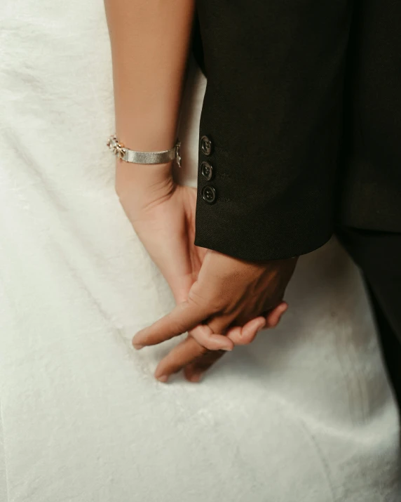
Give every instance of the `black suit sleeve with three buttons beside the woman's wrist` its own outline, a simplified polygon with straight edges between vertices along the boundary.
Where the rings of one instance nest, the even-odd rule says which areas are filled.
[[[313,251],[333,232],[351,0],[197,10],[208,85],[195,244],[245,260]]]

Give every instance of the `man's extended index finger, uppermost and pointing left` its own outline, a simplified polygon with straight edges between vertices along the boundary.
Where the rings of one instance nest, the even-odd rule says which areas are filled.
[[[210,315],[205,307],[191,300],[179,303],[169,314],[138,331],[132,338],[132,345],[140,349],[145,345],[156,345],[186,331],[190,331]]]

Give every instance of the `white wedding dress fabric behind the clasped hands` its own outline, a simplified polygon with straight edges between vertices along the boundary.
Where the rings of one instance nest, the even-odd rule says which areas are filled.
[[[114,192],[102,2],[0,11],[0,501],[396,502],[398,425],[360,276],[299,260],[278,329],[203,383],[158,383],[174,305]],[[205,79],[180,136],[196,184]]]

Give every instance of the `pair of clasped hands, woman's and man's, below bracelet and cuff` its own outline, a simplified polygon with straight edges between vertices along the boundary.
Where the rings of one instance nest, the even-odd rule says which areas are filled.
[[[156,369],[167,381],[180,369],[198,381],[224,351],[250,343],[274,327],[287,309],[282,302],[296,258],[247,262],[193,244],[196,189],[177,185],[170,165],[126,166],[119,160],[116,192],[138,237],[168,281],[177,307],[133,338],[135,348],[181,333]]]

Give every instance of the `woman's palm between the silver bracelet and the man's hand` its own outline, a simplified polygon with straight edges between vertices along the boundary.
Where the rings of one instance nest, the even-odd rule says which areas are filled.
[[[137,236],[179,302],[198,276],[206,250],[192,244],[196,189],[177,185],[170,171],[170,164],[120,164],[116,192]]]

